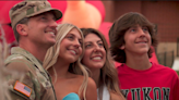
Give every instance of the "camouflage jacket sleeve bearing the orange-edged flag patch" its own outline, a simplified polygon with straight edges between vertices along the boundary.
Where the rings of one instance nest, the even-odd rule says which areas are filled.
[[[7,65],[9,71],[19,73],[14,77],[13,74],[9,76],[9,90],[12,100],[38,100],[35,96],[34,75],[32,74],[31,65],[23,61],[12,61]]]

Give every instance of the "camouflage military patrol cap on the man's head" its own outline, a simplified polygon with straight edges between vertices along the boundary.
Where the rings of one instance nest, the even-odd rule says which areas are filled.
[[[62,17],[61,11],[51,8],[47,0],[26,0],[15,4],[10,10],[11,26],[14,28],[15,24],[24,17],[35,16],[48,11],[52,11],[56,20]]]

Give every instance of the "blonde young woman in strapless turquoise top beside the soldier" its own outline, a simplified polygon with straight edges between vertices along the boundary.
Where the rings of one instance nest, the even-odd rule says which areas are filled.
[[[81,64],[84,52],[82,32],[72,24],[61,24],[57,28],[56,41],[47,51],[44,67],[51,75],[57,99],[97,100],[96,85]]]

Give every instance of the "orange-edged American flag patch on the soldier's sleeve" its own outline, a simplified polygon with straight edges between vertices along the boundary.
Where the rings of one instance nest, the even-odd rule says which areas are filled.
[[[29,88],[28,86],[26,86],[25,84],[16,80],[15,85],[14,85],[14,90],[29,97],[32,93],[32,88]]]

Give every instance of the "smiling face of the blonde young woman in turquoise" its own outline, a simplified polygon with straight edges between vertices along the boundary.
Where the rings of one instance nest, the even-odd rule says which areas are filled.
[[[72,28],[60,43],[59,60],[68,63],[75,62],[82,54],[82,36],[76,28]]]

